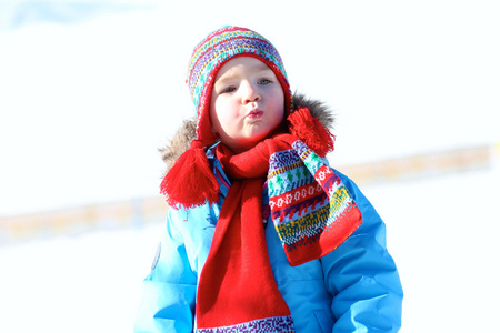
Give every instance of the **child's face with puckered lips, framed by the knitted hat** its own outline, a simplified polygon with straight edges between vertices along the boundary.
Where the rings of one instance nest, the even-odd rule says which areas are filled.
[[[252,57],[226,62],[216,77],[210,122],[234,153],[253,148],[283,120],[284,94],[274,72]]]

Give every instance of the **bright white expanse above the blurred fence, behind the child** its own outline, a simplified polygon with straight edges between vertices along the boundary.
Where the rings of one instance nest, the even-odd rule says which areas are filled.
[[[224,24],[270,39],[292,88],[334,108],[333,165],[500,140],[497,1],[326,3],[176,1],[0,30],[0,215],[157,195],[157,148],[192,111],[191,50]]]

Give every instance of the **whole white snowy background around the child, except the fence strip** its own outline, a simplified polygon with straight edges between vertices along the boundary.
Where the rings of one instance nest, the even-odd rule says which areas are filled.
[[[0,216],[158,195],[209,31],[280,50],[334,108],[333,165],[500,142],[497,1],[0,1]],[[362,190],[388,226],[401,332],[500,332],[497,160]],[[0,332],[130,332],[161,221],[0,245]]]

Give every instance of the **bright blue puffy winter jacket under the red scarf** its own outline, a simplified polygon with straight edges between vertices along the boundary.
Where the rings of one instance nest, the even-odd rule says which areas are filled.
[[[143,281],[136,332],[193,332],[198,279],[230,183],[211,150],[208,157],[218,170],[220,201],[168,211],[157,261]],[[336,172],[357,202],[363,223],[331,253],[290,266],[269,219],[266,239],[278,289],[299,333],[398,332],[402,289],[386,249],[384,223],[358,186]]]

